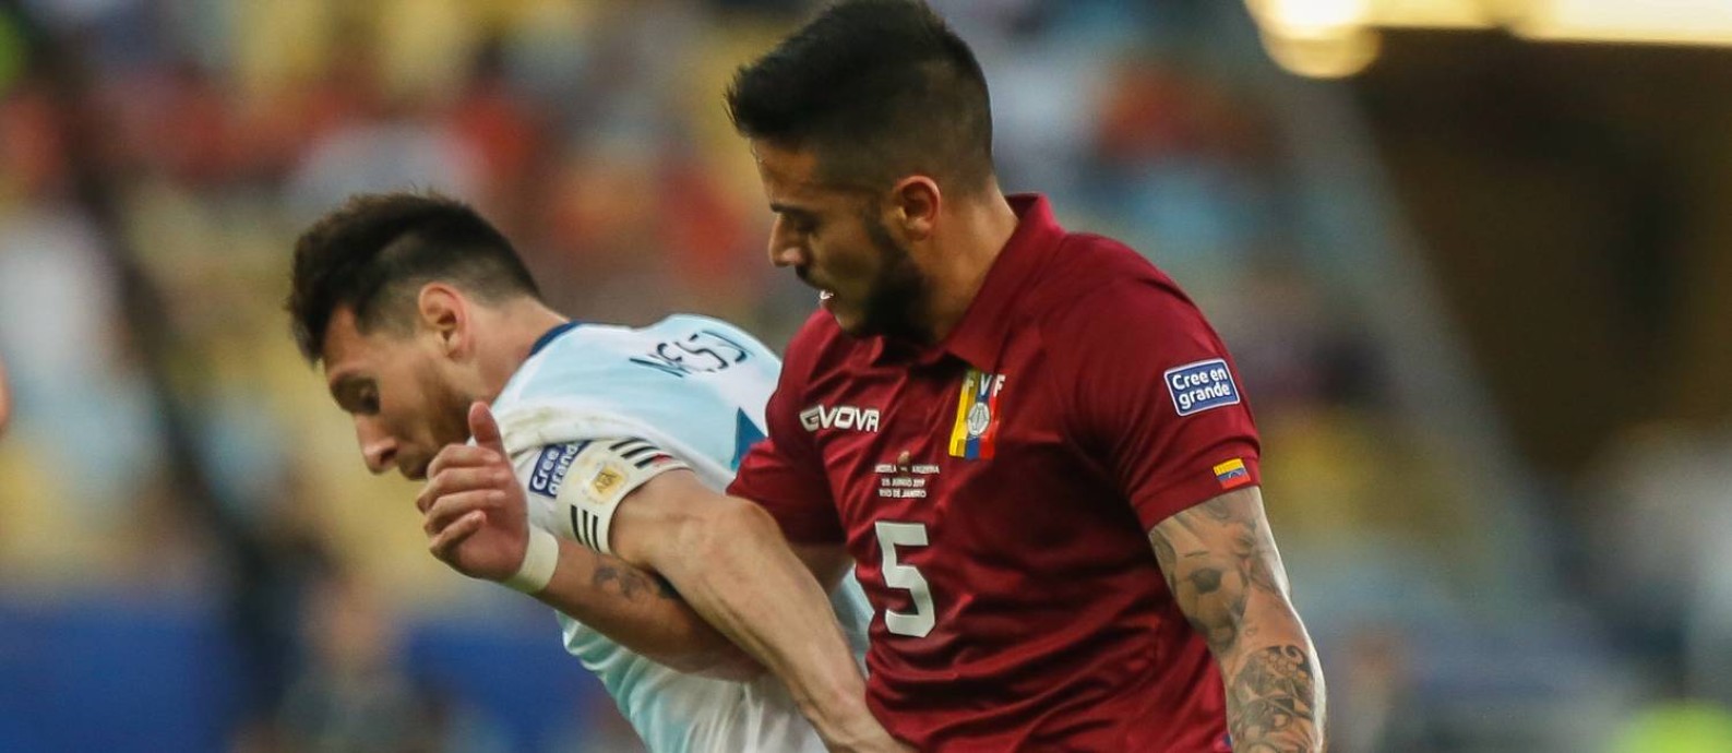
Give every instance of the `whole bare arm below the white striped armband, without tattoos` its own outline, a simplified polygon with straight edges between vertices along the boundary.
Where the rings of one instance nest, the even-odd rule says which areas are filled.
[[[611,545],[627,563],[662,573],[781,677],[831,750],[897,750],[866,710],[866,682],[826,597],[849,563],[840,545],[797,554],[769,512],[710,492],[689,471],[632,492],[615,514]]]

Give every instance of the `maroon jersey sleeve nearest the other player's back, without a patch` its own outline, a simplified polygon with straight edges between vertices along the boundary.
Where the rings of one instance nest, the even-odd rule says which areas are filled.
[[[805,332],[802,332],[805,334]],[[776,393],[764,407],[767,438],[759,441],[740,460],[734,483],[727,493],[745,497],[762,505],[790,542],[840,544],[845,540],[824,460],[812,443],[812,434],[800,426],[798,400],[804,391],[804,374],[811,367],[802,358],[804,338],[795,338]]]

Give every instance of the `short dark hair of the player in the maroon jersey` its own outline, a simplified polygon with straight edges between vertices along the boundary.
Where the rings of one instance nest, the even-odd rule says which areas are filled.
[[[968,43],[918,0],[843,0],[743,66],[727,114],[746,138],[812,149],[828,180],[992,177],[992,107]]]

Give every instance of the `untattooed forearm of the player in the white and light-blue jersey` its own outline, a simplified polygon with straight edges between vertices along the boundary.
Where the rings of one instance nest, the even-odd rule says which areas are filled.
[[[823,587],[767,512],[731,500],[724,514],[679,525],[655,557],[698,613],[781,677],[826,743],[882,736]]]

